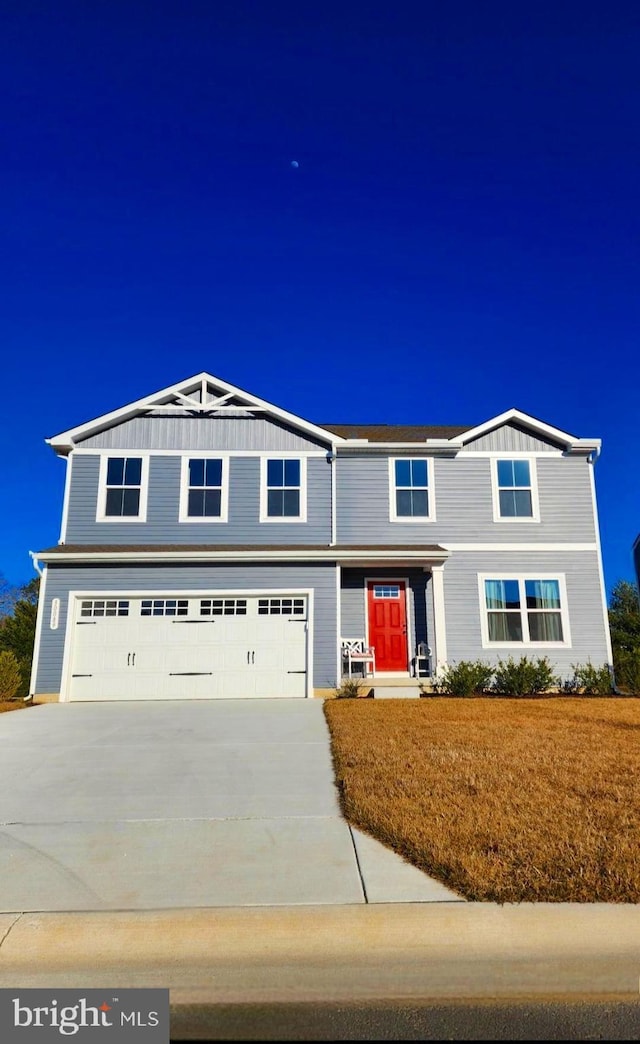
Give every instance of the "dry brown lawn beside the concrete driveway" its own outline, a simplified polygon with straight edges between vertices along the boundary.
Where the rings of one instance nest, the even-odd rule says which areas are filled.
[[[473,900],[640,902],[640,699],[332,699],[342,809]]]

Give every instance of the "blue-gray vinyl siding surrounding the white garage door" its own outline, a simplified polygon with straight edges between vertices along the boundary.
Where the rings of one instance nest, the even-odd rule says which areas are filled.
[[[34,692],[60,692],[70,591],[313,590],[313,684],[336,675],[336,580],[332,563],[305,565],[49,566]],[[51,599],[60,598],[56,631],[49,626]]]

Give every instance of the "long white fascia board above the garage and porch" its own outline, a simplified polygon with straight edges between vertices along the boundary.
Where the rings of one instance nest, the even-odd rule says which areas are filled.
[[[449,551],[424,551],[411,547],[399,547],[393,550],[349,551],[335,547],[318,548],[312,551],[304,548],[288,548],[282,551],[262,551],[255,548],[251,551],[238,551],[230,545],[223,551],[65,551],[63,553],[39,554],[42,562],[90,563],[104,562],[397,562],[410,560],[417,562],[443,562],[449,557]]]

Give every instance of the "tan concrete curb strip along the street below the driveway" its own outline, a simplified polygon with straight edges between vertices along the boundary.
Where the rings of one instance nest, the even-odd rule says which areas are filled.
[[[0,917],[0,987],[171,1004],[638,998],[640,906],[398,904]]]

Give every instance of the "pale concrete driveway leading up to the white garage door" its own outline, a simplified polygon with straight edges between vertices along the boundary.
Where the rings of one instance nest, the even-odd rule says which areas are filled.
[[[459,901],[340,815],[319,701],[0,715],[0,910]]]

